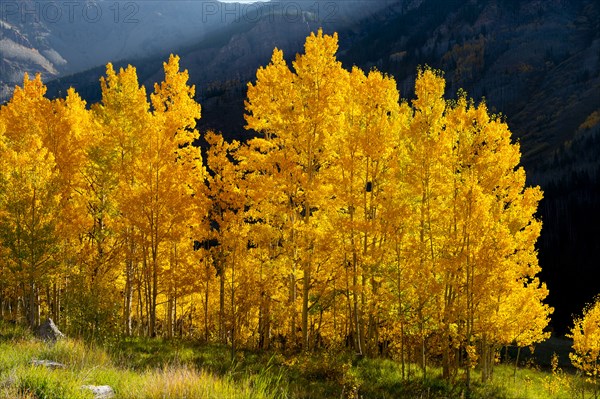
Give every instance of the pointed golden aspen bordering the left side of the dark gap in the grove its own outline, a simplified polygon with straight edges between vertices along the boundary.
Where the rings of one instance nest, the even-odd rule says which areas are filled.
[[[206,207],[204,166],[200,149],[193,145],[199,139],[195,126],[201,111],[200,104],[194,100],[196,89],[188,85],[188,71],[180,71],[178,56],[171,55],[163,63],[163,69],[164,80],[154,85],[154,93],[150,95],[155,129],[147,131],[150,133],[146,136],[149,145],[143,149],[139,160],[149,163],[147,166],[150,167],[138,164],[137,168],[141,172],[139,186],[146,197],[142,200],[145,204],[145,220],[139,227],[141,229],[144,226],[142,231],[145,234],[149,231],[150,235],[151,326],[156,324],[156,320],[152,322],[156,318],[156,310],[152,308],[156,307],[159,290],[159,246],[164,240],[171,247],[171,256],[167,258],[169,261],[163,260],[163,267],[170,272],[165,276],[164,284],[167,285],[167,313],[171,315],[177,300],[175,288],[183,284],[168,277],[183,277],[185,271],[193,273],[195,257],[192,254],[192,238],[202,235],[200,220]],[[172,334],[174,317],[170,319],[171,323],[167,323],[168,335]]]

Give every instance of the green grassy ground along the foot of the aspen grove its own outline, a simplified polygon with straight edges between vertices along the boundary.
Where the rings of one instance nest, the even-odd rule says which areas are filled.
[[[554,341],[536,353],[545,361],[546,352],[563,344]],[[36,367],[33,359],[67,367]],[[572,369],[550,370],[532,360],[528,363],[516,374],[514,365],[498,365],[486,384],[479,382],[474,370],[471,397],[571,399],[582,397],[584,388],[586,397],[592,396],[592,386]],[[465,397],[461,373],[448,383],[439,368],[430,367],[423,378],[420,369],[411,365],[403,379],[397,362],[334,351],[284,356],[239,350],[232,362],[226,346],[180,340],[124,339],[105,348],[71,339],[48,344],[0,323],[0,398],[86,399],[93,395],[82,385],[110,385],[119,399],[458,399]]]

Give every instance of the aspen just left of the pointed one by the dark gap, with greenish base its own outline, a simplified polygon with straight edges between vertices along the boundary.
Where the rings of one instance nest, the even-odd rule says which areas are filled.
[[[96,298],[119,298],[127,291],[123,287],[123,276],[129,275],[126,250],[134,243],[122,205],[127,188],[133,184],[132,165],[140,154],[140,132],[149,125],[149,103],[131,66],[117,72],[108,64],[100,86],[102,98],[91,106],[91,121],[81,121],[88,123],[93,134],[87,136],[81,168],[81,249],[77,272],[70,276],[77,289],[68,300],[81,312],[72,319],[71,328],[103,337],[118,331],[122,302]],[[72,102],[73,107],[81,106],[75,97]]]

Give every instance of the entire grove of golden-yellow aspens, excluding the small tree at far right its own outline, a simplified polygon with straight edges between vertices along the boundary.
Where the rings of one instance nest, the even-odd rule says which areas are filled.
[[[441,72],[415,99],[347,70],[337,35],[275,49],[247,128],[205,132],[179,58],[149,96],[107,65],[102,99],[50,100],[25,76],[0,108],[0,310],[69,334],[190,336],[284,351],[347,347],[426,372],[491,373],[547,337],[525,186],[500,116]]]

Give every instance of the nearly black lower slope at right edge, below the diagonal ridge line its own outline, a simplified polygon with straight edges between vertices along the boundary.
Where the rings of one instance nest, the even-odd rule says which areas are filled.
[[[598,112],[596,112],[598,115]],[[597,117],[596,117],[597,118]],[[593,122],[594,116],[590,118]],[[586,124],[584,123],[584,126]],[[542,277],[559,331],[600,294],[600,124],[582,127],[533,175],[545,190],[539,214]]]

